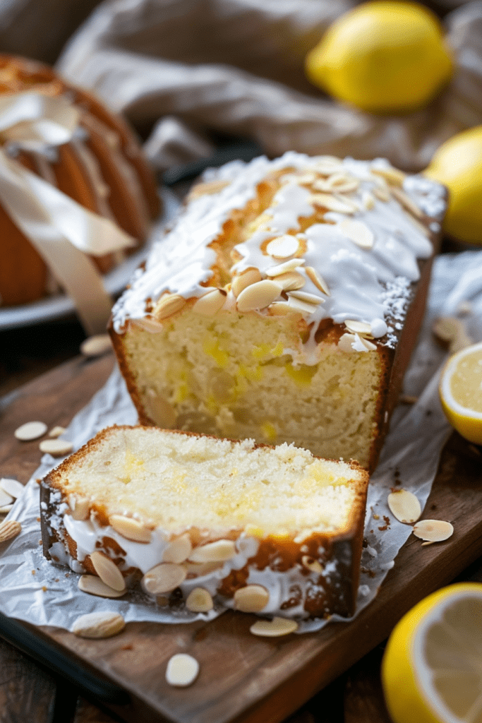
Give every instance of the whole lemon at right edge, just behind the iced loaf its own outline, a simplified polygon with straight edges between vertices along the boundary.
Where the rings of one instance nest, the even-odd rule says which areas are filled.
[[[482,244],[482,126],[444,142],[423,175],[449,189],[444,231],[468,244]]]

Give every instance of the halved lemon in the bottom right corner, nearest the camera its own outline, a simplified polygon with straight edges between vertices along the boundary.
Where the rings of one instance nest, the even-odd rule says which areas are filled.
[[[394,723],[481,723],[482,584],[429,595],[392,630],[382,685]]]

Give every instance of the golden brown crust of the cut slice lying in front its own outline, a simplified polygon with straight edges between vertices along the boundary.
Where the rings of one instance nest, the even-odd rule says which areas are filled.
[[[63,523],[56,523],[55,529],[50,524],[51,518],[59,515],[59,508],[66,502],[63,480],[68,476],[69,469],[82,462],[85,458],[102,445],[109,435],[116,435],[121,429],[139,429],[142,425],[131,427],[129,425],[115,425],[107,429],[103,429],[92,440],[87,442],[82,448],[64,460],[56,469],[53,469],[40,486],[40,508],[42,521],[43,549],[46,557],[50,558],[49,550],[54,542],[61,542],[68,550],[69,555],[75,560],[77,559],[77,545],[69,536],[64,528]],[[152,433],[157,437],[159,430],[152,427],[144,428],[147,433]],[[217,440],[217,437],[211,435],[197,435],[194,432],[181,432],[180,430],[169,430],[172,435],[187,435],[189,437],[208,437]],[[238,443],[238,440],[229,440]],[[258,444],[254,445],[254,449],[266,448],[274,449],[272,445]],[[259,540],[259,547],[254,557],[249,558],[240,570],[233,570],[220,583],[218,594],[225,599],[231,599],[239,588],[246,584],[249,575],[249,568],[256,570],[272,570],[276,573],[288,572],[293,568],[301,570],[301,576],[306,577],[307,583],[310,570],[307,566],[307,560],[316,560],[321,565],[320,570],[330,562],[335,562],[334,570],[330,573],[329,581],[324,578],[322,573],[319,574],[316,583],[310,588],[310,593],[306,596],[304,607],[309,615],[314,617],[325,617],[337,612],[340,615],[353,615],[356,602],[356,591],[358,589],[359,564],[361,559],[361,547],[363,542],[363,520],[366,505],[366,490],[368,487],[368,473],[361,468],[357,462],[351,462],[350,468],[358,474],[358,482],[356,484],[356,499],[350,510],[350,517],[344,526],[335,532],[312,533],[301,542],[297,542],[295,534],[276,536],[269,534]],[[59,497],[59,492],[60,497]],[[56,499],[54,500],[53,497]],[[108,527],[109,521],[105,510],[100,505],[96,505],[95,501],[91,505],[91,513],[95,515],[96,522],[100,526]],[[182,531],[181,531],[182,532]],[[243,532],[242,529],[233,529],[228,534],[223,534],[225,539],[236,540]],[[195,521],[189,529],[193,544],[197,544],[199,539],[206,542],[214,542],[220,539],[221,535],[215,531],[199,530]],[[206,534],[207,533],[207,534]],[[181,533],[180,533],[181,534]],[[98,547],[105,552],[116,564],[121,564],[125,556],[124,549],[118,542],[113,540],[106,534]],[[87,555],[82,560],[85,570],[91,574],[96,574],[90,557]],[[124,570],[123,575],[126,577],[134,576],[134,580],[139,579],[142,575],[137,568],[129,568]],[[291,597],[283,602],[282,609],[288,610],[296,607],[302,599],[301,589],[296,589],[296,585],[291,589]]]

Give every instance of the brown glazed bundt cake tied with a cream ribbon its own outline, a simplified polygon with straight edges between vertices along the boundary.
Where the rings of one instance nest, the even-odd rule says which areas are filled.
[[[34,94],[59,98],[74,108],[79,123],[71,140],[47,145],[40,152],[22,143],[23,121],[9,137],[6,130],[12,114],[4,103],[23,104],[28,117],[35,110]],[[121,117],[87,91],[64,82],[47,65],[9,55],[0,55],[0,104],[0,147],[7,155],[87,210],[115,221],[137,240],[137,246],[145,241],[160,202],[139,142]],[[43,122],[40,118],[39,124]],[[1,204],[0,230],[0,306],[25,304],[57,291],[46,261]],[[92,256],[92,261],[106,273],[124,257],[121,250]]]

